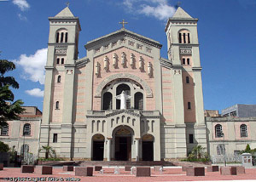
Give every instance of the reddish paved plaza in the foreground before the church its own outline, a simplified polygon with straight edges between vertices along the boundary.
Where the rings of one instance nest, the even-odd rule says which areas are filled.
[[[20,168],[4,168],[0,171],[0,181],[256,181],[256,168],[247,168],[245,174],[220,175],[219,172],[207,172],[205,176],[186,176],[182,168],[164,168],[162,173],[154,172],[151,168],[151,177],[136,177],[135,174],[119,168],[119,174],[114,174],[114,168],[103,168],[104,173],[93,172],[93,177],[75,176],[74,172],[63,171],[62,168],[54,168],[53,174],[40,175],[37,173],[20,173]]]

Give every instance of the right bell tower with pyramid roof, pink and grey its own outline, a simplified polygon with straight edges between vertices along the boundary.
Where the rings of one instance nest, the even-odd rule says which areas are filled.
[[[207,146],[197,21],[178,7],[165,29],[172,62],[173,120],[185,126],[187,153],[196,144]]]

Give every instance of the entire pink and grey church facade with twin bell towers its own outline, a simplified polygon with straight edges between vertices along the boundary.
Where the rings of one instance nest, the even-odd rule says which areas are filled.
[[[159,42],[125,28],[86,43],[78,59],[79,18],[68,7],[50,17],[40,146],[96,161],[168,160],[207,147],[197,21],[182,8],[167,21],[166,59]]]

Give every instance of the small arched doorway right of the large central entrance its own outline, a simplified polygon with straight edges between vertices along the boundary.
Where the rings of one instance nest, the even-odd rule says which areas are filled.
[[[143,161],[154,161],[154,136],[143,136]]]

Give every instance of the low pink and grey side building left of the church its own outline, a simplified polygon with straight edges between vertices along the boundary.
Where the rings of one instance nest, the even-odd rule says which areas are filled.
[[[23,106],[25,111],[20,115],[20,120],[7,121],[7,125],[0,128],[0,140],[15,148],[19,156],[27,152],[38,154],[40,125],[42,112],[36,106]]]

